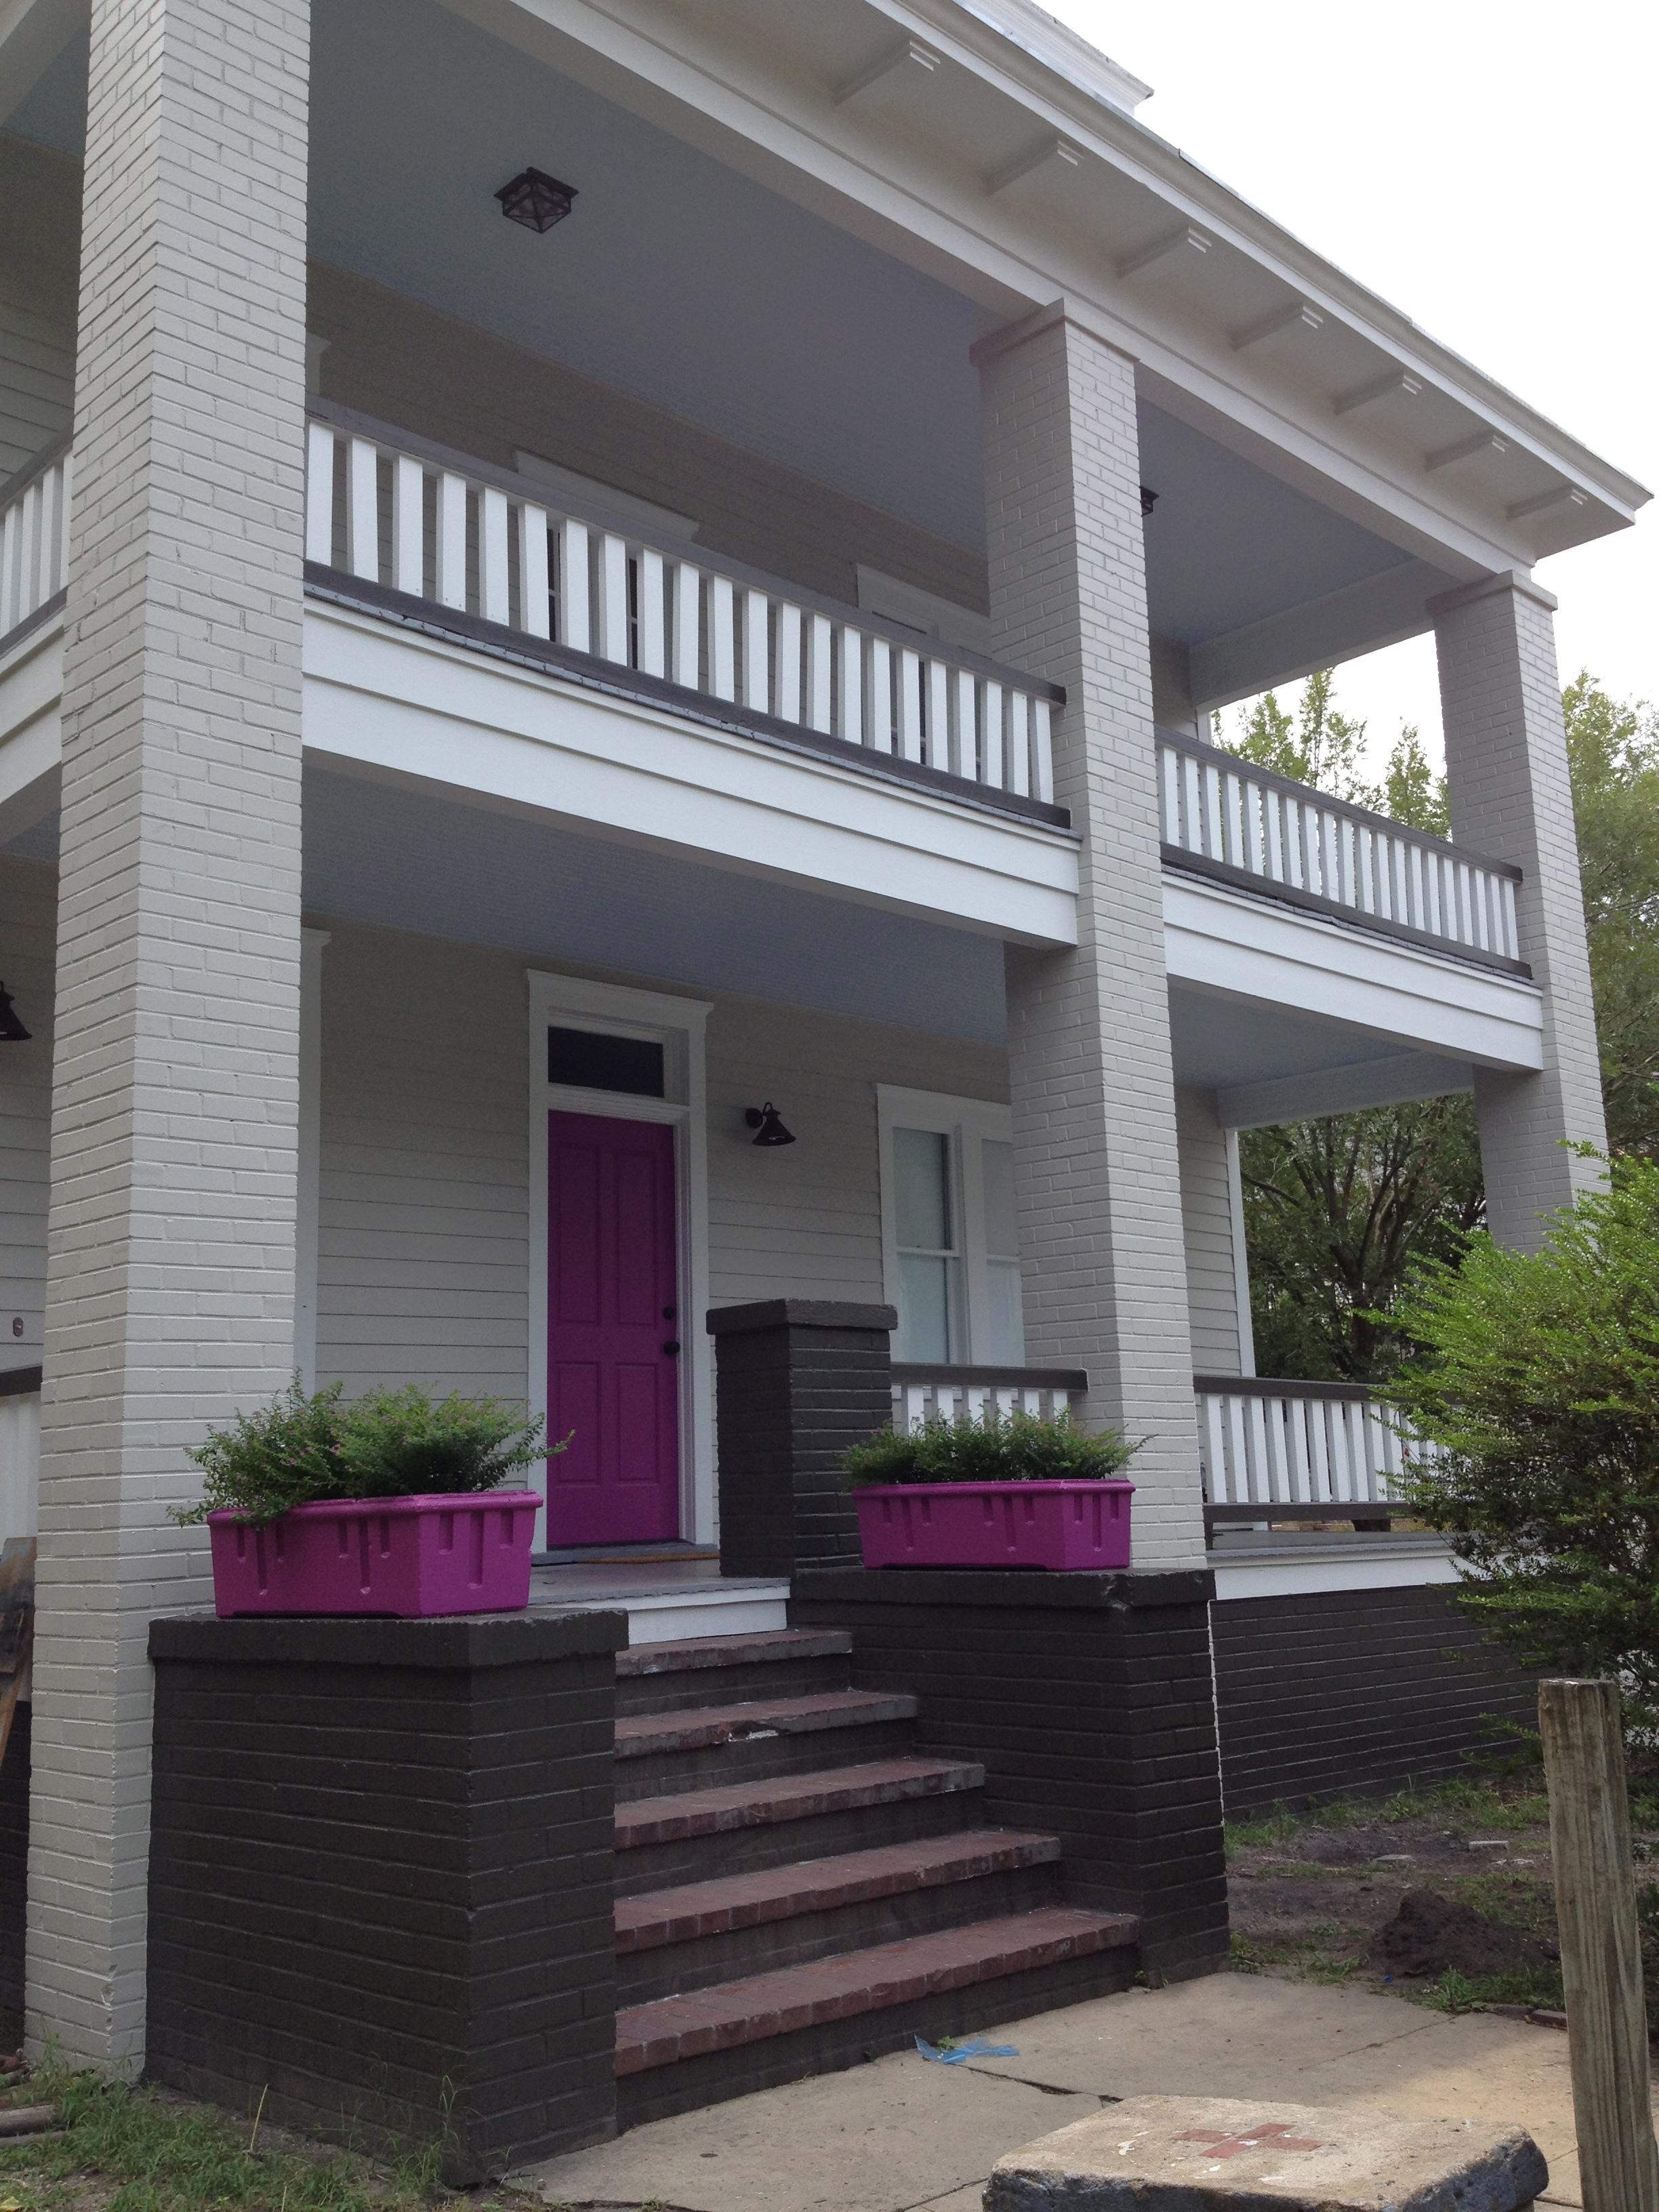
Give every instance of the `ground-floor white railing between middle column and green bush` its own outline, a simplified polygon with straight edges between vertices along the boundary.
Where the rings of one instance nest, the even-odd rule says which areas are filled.
[[[1358,1383],[1197,1376],[1203,1498],[1276,1520],[1387,1513],[1405,1471],[1396,1418]]]

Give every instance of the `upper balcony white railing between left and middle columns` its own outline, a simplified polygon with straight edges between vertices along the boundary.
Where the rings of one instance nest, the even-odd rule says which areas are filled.
[[[1051,684],[684,540],[655,542],[622,515],[341,409],[310,422],[305,557],[872,754],[1053,803]]]

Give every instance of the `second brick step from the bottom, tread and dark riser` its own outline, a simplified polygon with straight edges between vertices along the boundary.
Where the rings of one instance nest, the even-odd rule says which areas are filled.
[[[958,1829],[619,1898],[617,2002],[1057,1902],[1057,1836]]]

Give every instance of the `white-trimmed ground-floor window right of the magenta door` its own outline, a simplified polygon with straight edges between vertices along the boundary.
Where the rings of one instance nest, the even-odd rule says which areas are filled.
[[[1022,1367],[1013,1126],[1006,1106],[878,1086],[894,1358]]]

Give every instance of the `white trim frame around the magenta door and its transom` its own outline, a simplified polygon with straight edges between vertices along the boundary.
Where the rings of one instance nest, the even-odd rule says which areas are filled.
[[[630,991],[529,969],[529,1376],[526,1400],[546,1418],[546,1117],[602,1113],[617,1121],[657,1121],[675,1130],[677,1305],[679,1305],[679,1531],[695,1544],[714,1542],[714,1365],[708,1314],[708,1053],[714,1011],[701,998]],[[668,1097],[626,1091],[582,1091],[546,1079],[546,1031],[568,1024],[613,1037],[648,1037],[664,1046]],[[535,1548],[546,1548],[546,1513],[535,1515]]]

